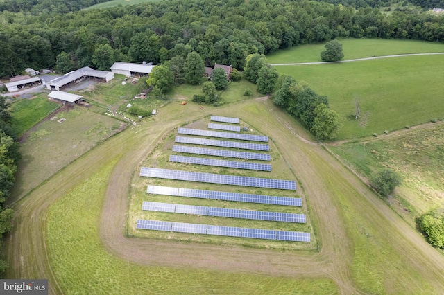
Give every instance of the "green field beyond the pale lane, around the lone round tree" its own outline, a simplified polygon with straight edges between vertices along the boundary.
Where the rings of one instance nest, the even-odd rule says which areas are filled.
[[[343,60],[356,58],[398,55],[407,53],[434,53],[444,52],[444,44],[399,39],[339,39],[342,44]],[[308,44],[284,49],[267,55],[270,64],[296,62],[322,62],[321,51],[325,43]]]

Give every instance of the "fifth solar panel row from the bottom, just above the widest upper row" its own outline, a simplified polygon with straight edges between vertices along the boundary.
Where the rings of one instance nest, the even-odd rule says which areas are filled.
[[[198,164],[198,165],[205,165],[205,166],[217,166],[217,167],[227,167],[227,168],[237,168],[237,169],[271,171],[270,164],[259,164],[259,163],[239,162],[239,161],[226,161],[226,160],[208,159],[208,158],[196,158],[196,157],[178,156],[176,154],[171,154],[169,156],[169,161],[170,162],[178,162],[178,163]]]

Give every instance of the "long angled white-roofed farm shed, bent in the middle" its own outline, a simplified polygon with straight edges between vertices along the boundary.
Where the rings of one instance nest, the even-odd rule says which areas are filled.
[[[49,90],[60,90],[64,87],[78,84],[84,80],[94,78],[99,82],[108,82],[114,78],[114,73],[107,71],[96,71],[89,66],[85,66],[76,71],[66,73],[62,77],[51,80],[46,84],[46,88]]]

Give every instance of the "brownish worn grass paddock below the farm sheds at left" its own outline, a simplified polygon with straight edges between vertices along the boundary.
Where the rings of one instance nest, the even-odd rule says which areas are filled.
[[[59,123],[62,118],[66,120]],[[122,124],[84,107],[62,111],[54,120],[42,122],[28,132],[27,140],[20,145],[22,160],[8,203],[17,201],[68,163],[105,141]]]

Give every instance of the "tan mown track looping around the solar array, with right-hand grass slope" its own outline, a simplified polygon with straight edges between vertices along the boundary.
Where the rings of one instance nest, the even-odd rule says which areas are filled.
[[[108,181],[99,235],[105,249],[127,262],[283,276],[307,283],[313,278],[330,278],[342,294],[419,294],[444,289],[443,256],[323,147],[300,140],[309,137],[269,100],[204,110],[190,104],[182,114],[167,109],[160,112],[157,121],[137,127],[137,134],[126,130],[94,148],[17,204],[15,227],[6,242],[12,266],[8,278],[49,278],[51,293],[60,293],[46,254],[50,250],[45,244],[48,208],[106,163],[119,159]],[[305,190],[304,202],[315,221],[320,252],[280,252],[124,236],[126,226],[134,226],[126,224],[127,196],[139,163],[164,134],[207,114],[241,116],[273,138]]]

